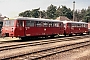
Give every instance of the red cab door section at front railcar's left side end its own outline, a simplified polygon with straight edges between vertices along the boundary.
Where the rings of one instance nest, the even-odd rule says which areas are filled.
[[[17,20],[17,35],[20,37],[25,36],[25,22],[24,22],[24,20]]]

